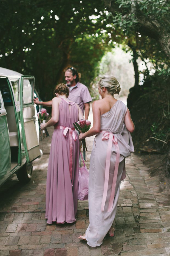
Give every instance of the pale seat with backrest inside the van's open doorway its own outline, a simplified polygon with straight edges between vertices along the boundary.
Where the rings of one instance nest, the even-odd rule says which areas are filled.
[[[10,147],[18,146],[18,132],[16,127],[15,112],[13,106],[5,106],[7,111],[7,123],[9,130]]]

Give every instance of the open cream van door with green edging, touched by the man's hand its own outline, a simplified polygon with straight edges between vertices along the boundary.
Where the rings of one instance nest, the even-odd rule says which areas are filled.
[[[21,76],[21,125],[24,128],[22,129],[22,136],[27,162],[32,162],[40,156],[39,131],[36,129],[38,118],[33,104],[34,81],[35,78],[32,76]]]

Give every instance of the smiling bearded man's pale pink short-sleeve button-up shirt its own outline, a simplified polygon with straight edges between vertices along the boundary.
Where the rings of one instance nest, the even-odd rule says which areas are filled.
[[[70,87],[69,87],[70,88]],[[92,101],[89,90],[86,85],[78,82],[75,87],[70,90],[68,99],[79,105],[84,114],[84,103]]]

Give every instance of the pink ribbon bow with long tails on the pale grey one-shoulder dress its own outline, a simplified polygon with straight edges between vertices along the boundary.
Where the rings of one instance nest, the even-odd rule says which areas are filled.
[[[104,133],[101,138],[102,140],[108,140],[105,178],[104,178],[104,191],[103,191],[103,199],[101,202],[101,211],[104,211],[104,206],[105,206],[106,197],[107,197],[112,143],[115,144],[115,148],[116,148],[116,162],[115,162],[115,169],[114,169],[114,176],[113,176],[113,183],[112,183],[112,191],[111,191],[109,206],[108,206],[108,210],[107,210],[107,212],[111,212],[111,210],[113,208],[114,197],[115,197],[115,188],[116,188],[116,180],[117,180],[117,174],[118,174],[118,168],[119,168],[120,150],[119,150],[117,138],[114,137],[114,134],[112,132],[107,132],[107,131],[101,130],[100,133]]]

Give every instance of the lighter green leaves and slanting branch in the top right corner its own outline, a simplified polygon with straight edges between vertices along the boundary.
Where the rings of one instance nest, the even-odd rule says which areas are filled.
[[[127,35],[138,32],[155,39],[162,51],[170,57],[169,17],[167,0],[104,0],[115,24],[126,30]]]

